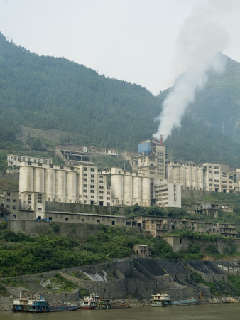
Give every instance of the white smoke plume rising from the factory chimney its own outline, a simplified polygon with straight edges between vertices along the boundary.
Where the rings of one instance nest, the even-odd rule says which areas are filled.
[[[187,106],[195,100],[196,90],[201,90],[207,83],[207,71],[224,70],[225,59],[220,52],[227,46],[229,35],[214,21],[214,6],[200,2],[201,6],[195,6],[180,29],[176,68],[184,73],[175,81],[173,91],[163,101],[163,110],[156,118],[160,125],[153,137],[157,139],[161,134],[164,140],[167,139],[174,127],[180,127]],[[212,1],[211,4],[220,2]]]

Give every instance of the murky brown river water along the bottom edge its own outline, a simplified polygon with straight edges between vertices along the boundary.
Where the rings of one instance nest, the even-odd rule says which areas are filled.
[[[0,312],[0,320],[239,320],[240,304],[202,304],[193,306],[142,306],[113,310],[77,310],[46,314]]]

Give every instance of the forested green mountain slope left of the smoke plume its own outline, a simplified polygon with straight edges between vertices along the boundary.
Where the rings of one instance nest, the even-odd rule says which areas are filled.
[[[60,129],[72,142],[120,149],[151,137],[160,112],[158,99],[139,85],[64,58],[39,57],[1,34],[0,106],[1,127]]]

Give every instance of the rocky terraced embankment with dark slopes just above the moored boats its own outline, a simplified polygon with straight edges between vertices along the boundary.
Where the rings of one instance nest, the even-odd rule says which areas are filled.
[[[74,284],[71,291],[62,291],[55,284],[55,274]],[[41,294],[50,302],[78,302],[82,294],[99,294],[113,300],[125,300],[132,306],[148,305],[151,295],[168,292],[173,299],[195,297],[204,303],[239,302],[233,288],[228,283],[231,274],[239,276],[239,261],[197,261],[197,260],[160,260],[124,259],[111,263],[74,267],[43,274],[15,277],[15,285],[7,285],[9,297],[17,298],[20,292],[30,296],[33,292]],[[198,274],[204,283],[196,281]],[[221,297],[212,294],[207,283],[218,292],[228,292]],[[16,284],[21,287],[16,287]],[[225,289],[223,289],[225,287]],[[12,299],[2,297],[0,309],[11,306]]]

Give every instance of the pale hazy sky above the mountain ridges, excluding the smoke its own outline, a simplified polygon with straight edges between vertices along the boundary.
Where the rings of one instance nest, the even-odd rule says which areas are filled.
[[[228,34],[223,53],[240,62],[240,0],[0,0],[0,32],[31,52],[74,60],[157,95],[188,67],[190,43],[182,46],[180,31],[202,6]]]

